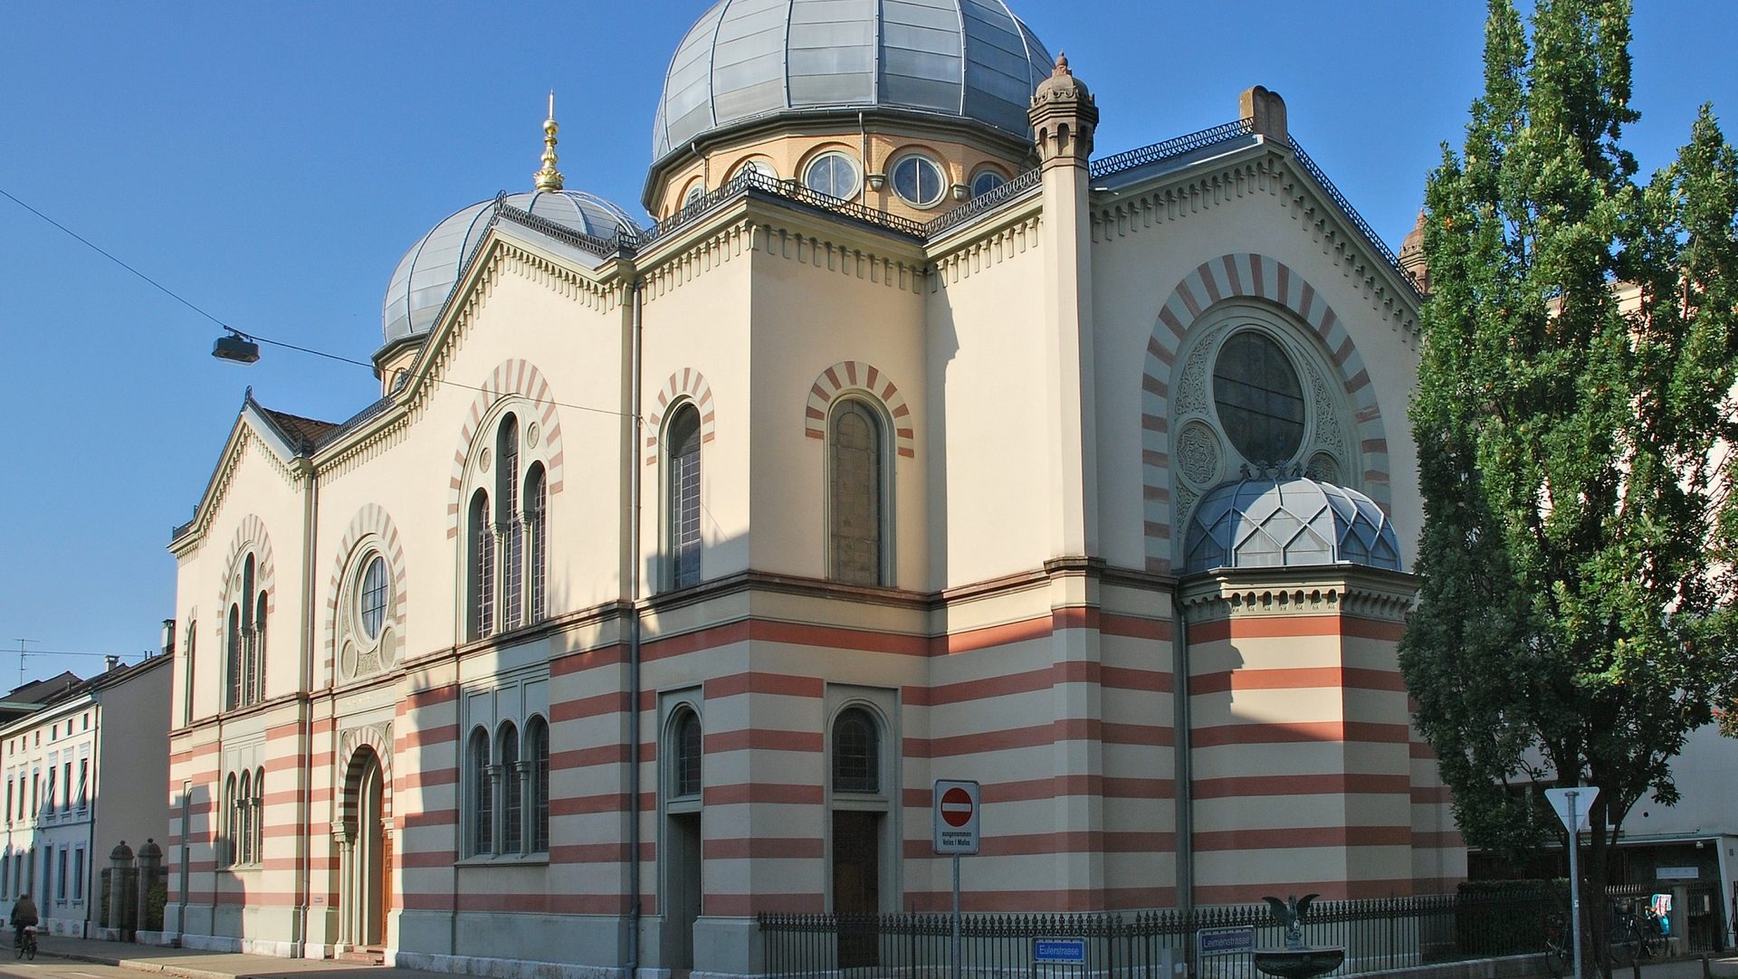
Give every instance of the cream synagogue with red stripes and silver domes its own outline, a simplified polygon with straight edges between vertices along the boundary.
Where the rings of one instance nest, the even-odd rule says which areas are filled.
[[[949,904],[942,778],[968,911],[1463,878],[1396,665],[1418,293],[1272,92],[1097,120],[999,0],[713,5],[650,231],[547,120],[382,274],[381,399],[247,396],[172,535],[165,929],[753,974],[760,911]]]

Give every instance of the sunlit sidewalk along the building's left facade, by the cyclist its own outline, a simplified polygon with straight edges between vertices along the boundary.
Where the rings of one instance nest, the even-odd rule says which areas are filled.
[[[191,948],[163,948],[155,944],[129,944],[118,941],[75,939],[43,936],[36,958],[70,958],[118,965],[141,972],[160,972],[182,979],[450,979],[450,972],[422,972],[419,969],[388,969],[384,965],[356,965],[330,958],[278,958],[275,955],[242,955],[233,951],[195,951]],[[1700,979],[1700,977],[1695,977]]]

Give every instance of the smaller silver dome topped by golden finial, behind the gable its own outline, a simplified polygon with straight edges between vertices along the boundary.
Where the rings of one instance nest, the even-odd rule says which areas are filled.
[[[610,238],[620,227],[634,229],[634,219],[614,203],[586,191],[528,191],[507,194],[507,207],[527,210],[580,234]],[[495,201],[474,203],[434,226],[421,241],[405,252],[386,286],[386,304],[381,307],[381,328],[386,344],[428,333],[440,316],[459,266],[471,255],[495,215]]]

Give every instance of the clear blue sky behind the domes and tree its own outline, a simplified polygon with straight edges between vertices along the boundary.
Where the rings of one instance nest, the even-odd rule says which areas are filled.
[[[1484,5],[1012,0],[1065,50],[1109,154],[1284,95],[1291,132],[1394,246],[1477,94]],[[367,359],[400,255],[447,214],[530,189],[556,90],[568,187],[640,215],[664,69],[706,0],[50,3],[0,31],[0,189],[238,330]],[[1738,132],[1738,3],[1644,0],[1627,144],[1670,161],[1696,106]],[[156,646],[169,529],[242,392],[342,420],[372,373],[217,328],[0,198],[0,689],[26,651]],[[31,653],[24,675],[101,668]]]

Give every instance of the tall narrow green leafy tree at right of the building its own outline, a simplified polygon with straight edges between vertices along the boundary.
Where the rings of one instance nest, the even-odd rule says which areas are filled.
[[[1401,670],[1477,847],[1595,785],[1587,880],[1735,693],[1738,158],[1703,106],[1641,184],[1630,3],[1491,0],[1484,94],[1425,205],[1425,524]],[[1602,943],[1601,943],[1602,944]]]

